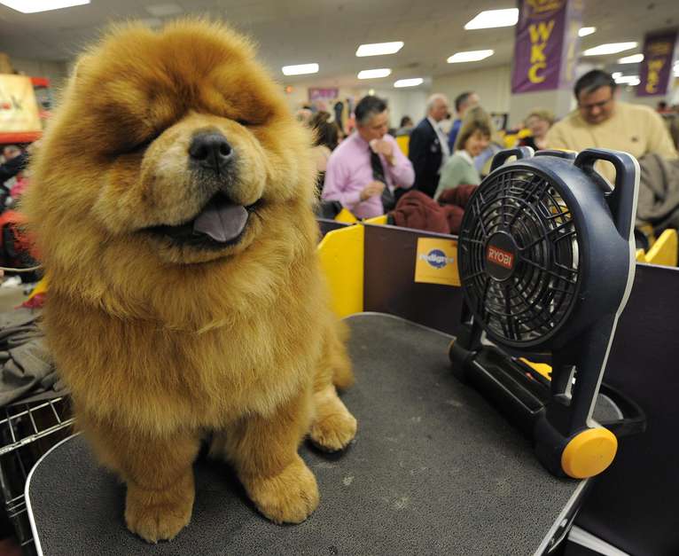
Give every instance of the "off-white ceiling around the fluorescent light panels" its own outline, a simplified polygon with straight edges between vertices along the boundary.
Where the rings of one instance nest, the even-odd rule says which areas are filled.
[[[71,60],[107,23],[152,19],[152,13],[163,12],[167,4],[181,13],[228,20],[253,35],[261,59],[283,82],[311,78],[319,85],[352,86],[361,69],[391,67],[392,75],[370,82],[391,86],[405,77],[432,78],[506,65],[512,56],[514,27],[463,28],[482,10],[512,7],[511,0],[91,0],[88,5],[35,14],[0,5],[0,51],[20,59]],[[597,33],[582,39],[583,49],[621,41],[637,41],[641,47],[646,31],[679,25],[677,0],[584,0],[584,4],[583,24],[597,27]],[[155,22],[168,17],[176,16]],[[386,41],[403,41],[405,46],[391,56],[355,57],[359,44]],[[456,51],[487,48],[496,54],[472,64],[446,63]],[[612,63],[636,51],[591,60]],[[284,78],[280,73],[282,66],[307,62],[318,62],[319,74]]]

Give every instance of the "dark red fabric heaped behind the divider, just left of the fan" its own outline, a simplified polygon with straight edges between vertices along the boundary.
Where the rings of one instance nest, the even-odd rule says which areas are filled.
[[[441,193],[441,205],[419,191],[405,193],[392,212],[394,223],[404,228],[457,234],[464,207],[477,185],[460,185]]]

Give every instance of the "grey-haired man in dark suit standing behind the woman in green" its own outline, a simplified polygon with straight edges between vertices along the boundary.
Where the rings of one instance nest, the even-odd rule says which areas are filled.
[[[448,98],[432,95],[426,103],[426,117],[410,132],[408,158],[415,168],[414,187],[433,197],[450,151],[448,138],[441,131],[441,121],[449,114]]]

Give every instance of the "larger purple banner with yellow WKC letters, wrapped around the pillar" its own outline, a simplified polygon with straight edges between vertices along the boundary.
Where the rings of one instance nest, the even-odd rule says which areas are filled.
[[[573,82],[582,0],[519,0],[511,92],[555,90]]]

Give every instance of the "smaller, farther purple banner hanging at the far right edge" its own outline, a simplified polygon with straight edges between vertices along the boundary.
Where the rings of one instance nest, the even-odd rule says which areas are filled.
[[[637,97],[665,96],[672,76],[676,29],[649,33],[644,37],[644,61],[641,63]]]

